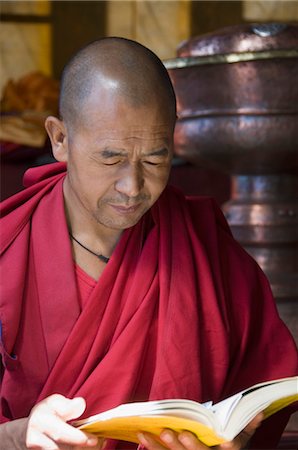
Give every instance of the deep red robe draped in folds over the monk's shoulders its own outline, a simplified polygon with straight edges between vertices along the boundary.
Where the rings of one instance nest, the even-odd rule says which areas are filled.
[[[64,176],[61,163],[31,169],[30,187],[3,202],[2,421],[54,392],[85,397],[86,416],[134,400],[217,402],[297,373],[266,278],[208,198],[166,188],[81,311]]]

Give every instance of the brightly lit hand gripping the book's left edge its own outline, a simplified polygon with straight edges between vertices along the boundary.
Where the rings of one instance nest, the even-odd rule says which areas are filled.
[[[32,409],[26,435],[26,448],[38,450],[99,450],[103,441],[83,433],[66,421],[79,417],[85,410],[83,398],[68,399],[51,395]]]

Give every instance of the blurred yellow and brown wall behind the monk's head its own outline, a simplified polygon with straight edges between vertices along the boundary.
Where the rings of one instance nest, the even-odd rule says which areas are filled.
[[[0,89],[41,70],[59,78],[69,57],[103,36],[136,39],[161,59],[177,45],[223,26],[298,21],[297,1],[1,1]]]

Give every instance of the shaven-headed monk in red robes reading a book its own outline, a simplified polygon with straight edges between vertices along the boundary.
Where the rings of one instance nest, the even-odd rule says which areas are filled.
[[[1,448],[99,449],[67,422],[297,373],[268,281],[215,202],[167,184],[175,120],[167,71],[136,42],[96,41],[66,66],[45,123],[57,163],[2,205]],[[218,449],[273,448],[289,413]],[[206,449],[160,438],[140,430],[148,450]]]

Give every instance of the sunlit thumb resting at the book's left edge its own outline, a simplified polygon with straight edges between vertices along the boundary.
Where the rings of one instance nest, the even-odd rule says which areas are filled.
[[[49,397],[47,403],[53,412],[65,421],[81,416],[86,408],[86,402],[82,397],[70,399],[60,394]]]

